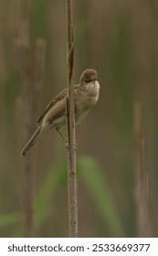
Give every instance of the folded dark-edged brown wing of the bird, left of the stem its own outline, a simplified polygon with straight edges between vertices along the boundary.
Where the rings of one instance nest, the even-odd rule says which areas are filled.
[[[68,94],[68,88],[66,88],[65,90],[61,91],[58,96],[53,99],[52,101],[50,101],[47,105],[47,108],[44,110],[44,112],[40,115],[40,117],[37,120],[37,123],[41,123],[41,121],[43,120],[43,118],[45,117],[45,115],[47,114],[47,112],[56,105],[56,103],[60,100],[62,100],[66,95]]]

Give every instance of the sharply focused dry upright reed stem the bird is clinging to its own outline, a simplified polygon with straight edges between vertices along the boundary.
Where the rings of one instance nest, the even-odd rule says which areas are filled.
[[[66,0],[67,5],[67,70],[68,99],[66,99],[66,123],[68,134],[68,227],[69,237],[78,234],[77,217],[77,181],[76,181],[76,140],[74,112],[74,42],[72,21],[72,0]]]

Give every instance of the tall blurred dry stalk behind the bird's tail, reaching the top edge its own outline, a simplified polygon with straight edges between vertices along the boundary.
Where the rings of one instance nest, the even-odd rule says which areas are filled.
[[[16,42],[19,66],[21,72],[21,119],[22,119],[22,144],[24,144],[31,134],[31,104],[29,89],[31,78],[29,73],[29,29],[27,18],[27,2],[21,0],[21,26],[19,39]],[[23,168],[23,197],[24,197],[24,219],[25,219],[25,236],[34,236],[34,193],[33,193],[33,168],[32,157],[29,155],[22,162]]]

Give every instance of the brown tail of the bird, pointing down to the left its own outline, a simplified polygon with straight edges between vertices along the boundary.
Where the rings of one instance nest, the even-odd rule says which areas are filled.
[[[41,137],[40,136],[40,129],[41,129],[41,126],[39,126],[37,128],[37,131],[32,135],[30,140],[27,142],[27,144],[25,145],[25,147],[23,148],[23,150],[21,152],[21,155],[25,156],[38,143],[38,141]]]

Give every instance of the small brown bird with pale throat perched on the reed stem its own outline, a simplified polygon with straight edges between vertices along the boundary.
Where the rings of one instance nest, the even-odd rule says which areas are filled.
[[[74,86],[76,124],[80,123],[90,111],[90,108],[96,104],[99,94],[100,83],[97,71],[85,69],[80,76],[79,84]],[[26,155],[51,128],[56,128],[58,133],[66,140],[59,129],[66,123],[65,97],[67,96],[68,88],[61,91],[55,99],[49,102],[46,110],[37,121],[37,124],[39,124],[37,131],[27,142],[21,155]]]

